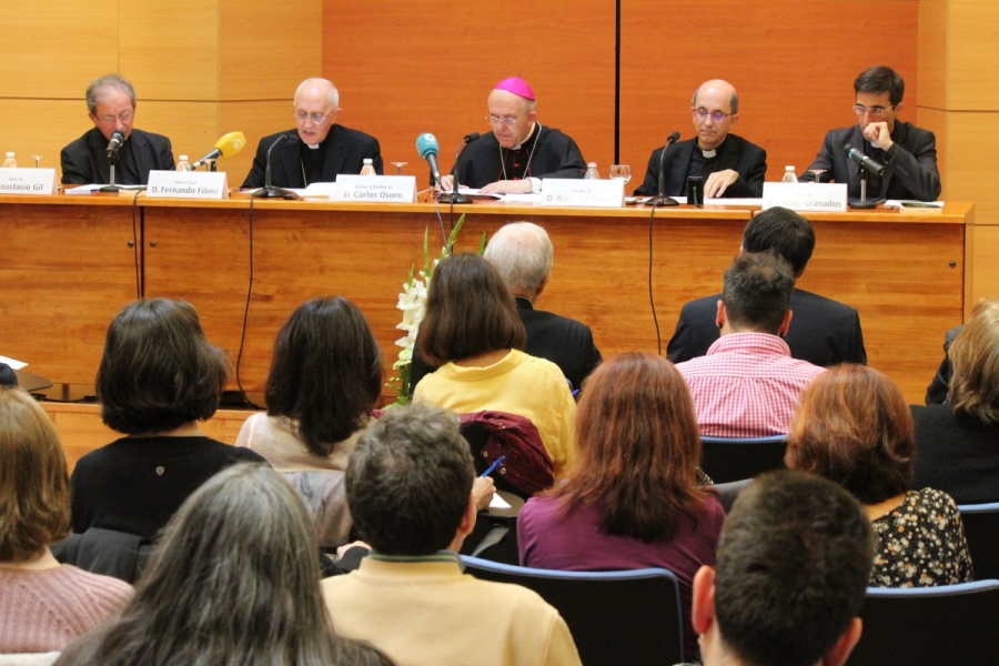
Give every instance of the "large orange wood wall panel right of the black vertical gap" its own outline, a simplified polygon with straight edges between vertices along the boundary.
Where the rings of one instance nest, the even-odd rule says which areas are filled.
[[[622,4],[620,159],[633,165],[635,180],[672,131],[693,137],[690,95],[708,79],[726,79],[738,90],[741,118],[734,131],[767,150],[771,181],[785,164],[800,174],[827,130],[857,122],[854,79],[872,64],[902,74],[902,119],[916,120],[914,0],[885,0],[876,12],[859,0]]]

